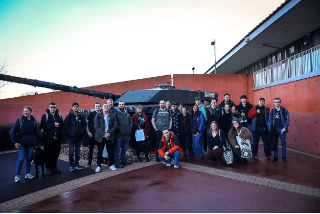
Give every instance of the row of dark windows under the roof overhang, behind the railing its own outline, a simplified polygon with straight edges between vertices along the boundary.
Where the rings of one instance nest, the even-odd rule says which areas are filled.
[[[304,36],[294,43],[291,43],[281,50],[275,51],[271,55],[243,68],[236,74],[250,74],[272,64],[278,63],[303,51],[309,50],[317,45],[320,45],[320,29],[315,30],[311,34]]]

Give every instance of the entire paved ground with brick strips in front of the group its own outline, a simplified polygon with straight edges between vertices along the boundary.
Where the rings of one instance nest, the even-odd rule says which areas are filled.
[[[71,172],[67,156],[61,155],[61,174],[23,178],[20,184],[12,175],[17,156],[0,154],[0,212],[320,212],[320,158],[291,150],[286,163],[272,163],[262,155],[246,166],[217,167],[203,159],[184,159],[174,170],[151,160],[116,171],[103,167],[100,173]]]

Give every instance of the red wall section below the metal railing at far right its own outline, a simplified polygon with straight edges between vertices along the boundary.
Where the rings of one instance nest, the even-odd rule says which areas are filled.
[[[274,108],[274,98],[289,110],[287,147],[320,156],[320,76],[253,91],[254,105],[260,97]],[[279,142],[280,145],[280,142]]]

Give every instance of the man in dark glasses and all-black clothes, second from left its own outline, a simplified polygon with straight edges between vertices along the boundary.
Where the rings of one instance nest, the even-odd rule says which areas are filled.
[[[46,174],[60,173],[57,168],[57,161],[60,155],[61,139],[63,138],[62,128],[64,121],[59,113],[57,104],[51,102],[46,113],[41,116],[40,126],[42,129],[41,139],[44,142]]]

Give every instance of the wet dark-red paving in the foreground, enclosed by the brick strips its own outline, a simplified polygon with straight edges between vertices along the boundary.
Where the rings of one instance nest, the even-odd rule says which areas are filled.
[[[319,213],[319,202],[318,197],[156,164],[105,178],[19,212]]]

